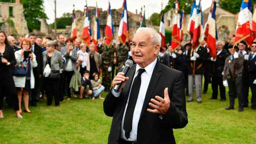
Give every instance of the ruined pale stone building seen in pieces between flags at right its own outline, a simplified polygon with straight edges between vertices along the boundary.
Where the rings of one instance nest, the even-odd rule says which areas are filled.
[[[210,12],[210,7],[203,11],[203,26],[205,25],[208,15]],[[235,34],[236,30],[236,16],[224,9],[217,7],[216,9],[216,22],[219,40],[227,40],[229,34]],[[164,14],[164,22],[166,29],[172,30],[175,12],[173,9],[169,10]],[[185,25],[184,25],[184,41],[188,41],[190,36],[187,32],[187,26],[189,21],[190,14],[185,15]]]

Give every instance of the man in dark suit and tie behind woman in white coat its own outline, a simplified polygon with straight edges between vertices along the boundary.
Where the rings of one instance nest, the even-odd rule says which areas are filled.
[[[36,34],[33,32],[29,33],[28,39],[32,45],[31,51],[36,55],[37,62],[37,67],[33,68],[33,73],[35,77],[35,88],[32,89],[31,92],[31,106],[37,106],[36,102],[39,100],[37,96],[38,81],[39,78],[41,78],[43,75],[43,55],[41,47],[35,43]]]

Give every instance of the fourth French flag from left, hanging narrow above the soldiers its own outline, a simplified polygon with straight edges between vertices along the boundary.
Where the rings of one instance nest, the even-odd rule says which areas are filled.
[[[111,15],[111,7],[110,7],[110,3],[109,3],[107,25],[106,25],[106,29],[105,29],[106,45],[107,46],[111,45],[112,40],[113,40],[113,34],[114,34],[114,27],[113,27],[112,15]]]

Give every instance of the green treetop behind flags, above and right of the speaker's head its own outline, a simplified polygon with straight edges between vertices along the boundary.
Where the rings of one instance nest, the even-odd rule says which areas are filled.
[[[170,9],[174,8],[174,2],[176,0],[169,0],[168,4],[165,6],[164,8],[164,13],[166,13],[167,11],[169,11]],[[192,2],[191,0],[178,0],[180,3],[180,10],[184,9],[185,10],[185,14],[189,14],[191,11],[191,5]]]

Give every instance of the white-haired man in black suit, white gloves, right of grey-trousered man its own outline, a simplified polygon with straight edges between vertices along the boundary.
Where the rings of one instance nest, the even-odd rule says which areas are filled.
[[[218,86],[220,89],[220,101],[226,100],[226,89],[223,85],[222,72],[225,66],[225,60],[229,56],[226,49],[223,48],[224,43],[218,41],[216,43],[217,56],[214,59],[211,57],[209,61],[210,75],[212,76],[212,97],[209,99],[217,99],[218,97]]]

